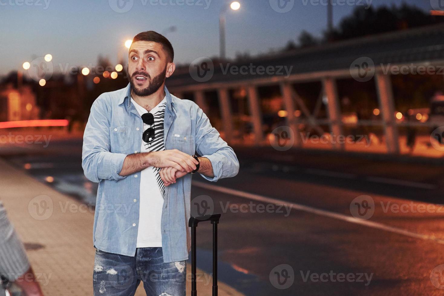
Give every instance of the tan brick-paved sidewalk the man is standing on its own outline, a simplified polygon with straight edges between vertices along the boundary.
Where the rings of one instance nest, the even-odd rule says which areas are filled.
[[[2,159],[0,188],[0,199],[25,243],[45,296],[93,295],[93,211]],[[191,266],[187,269],[189,279]],[[211,278],[202,278],[207,280],[198,283],[198,294],[211,295]],[[190,290],[188,281],[186,295]],[[136,295],[145,295],[142,284]],[[219,295],[242,294],[219,282]]]

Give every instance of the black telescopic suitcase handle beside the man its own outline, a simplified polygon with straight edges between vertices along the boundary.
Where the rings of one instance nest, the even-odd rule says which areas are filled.
[[[218,295],[218,223],[221,214],[191,217],[191,296],[197,296],[196,290],[196,227],[199,222],[210,221],[213,224],[213,296]]]

